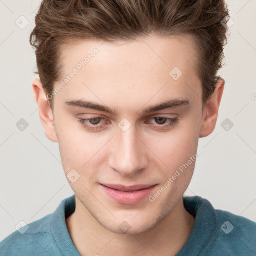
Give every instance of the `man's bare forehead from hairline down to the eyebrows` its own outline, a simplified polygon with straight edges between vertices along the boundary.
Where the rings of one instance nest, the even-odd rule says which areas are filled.
[[[200,94],[196,48],[190,35],[150,35],[114,43],[77,41],[62,47],[61,61],[63,75],[55,87],[75,72],[59,93],[64,100],[77,98],[79,93],[80,97],[94,94],[104,99],[107,94],[111,101],[126,95],[127,100],[136,101],[134,95],[147,99],[157,91],[158,97],[169,92],[187,97],[189,87]]]

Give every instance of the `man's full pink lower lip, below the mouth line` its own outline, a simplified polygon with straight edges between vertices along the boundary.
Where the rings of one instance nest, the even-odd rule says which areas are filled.
[[[149,196],[149,194],[152,192],[156,185],[145,189],[130,192],[112,189],[104,185],[100,186],[104,189],[107,195],[109,195],[114,201],[122,204],[135,204],[139,203],[145,197]]]

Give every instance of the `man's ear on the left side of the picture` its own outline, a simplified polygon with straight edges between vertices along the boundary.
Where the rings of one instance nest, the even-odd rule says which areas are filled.
[[[34,79],[32,81],[32,87],[45,135],[49,140],[53,142],[58,142],[54,126],[53,113],[40,79]]]

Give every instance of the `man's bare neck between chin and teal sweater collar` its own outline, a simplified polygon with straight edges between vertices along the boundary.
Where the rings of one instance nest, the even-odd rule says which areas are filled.
[[[75,212],[66,219],[67,229],[81,255],[176,255],[187,242],[194,217],[182,199],[171,213],[140,234],[117,234],[101,226],[75,197]],[[120,253],[121,251],[121,253]]]

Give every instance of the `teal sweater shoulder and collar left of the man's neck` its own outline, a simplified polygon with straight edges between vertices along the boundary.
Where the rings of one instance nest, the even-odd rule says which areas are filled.
[[[65,218],[75,210],[75,196],[65,198],[47,216],[25,224],[0,242],[0,255],[79,255]]]

